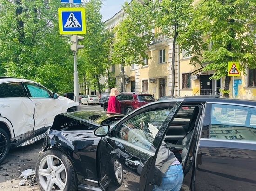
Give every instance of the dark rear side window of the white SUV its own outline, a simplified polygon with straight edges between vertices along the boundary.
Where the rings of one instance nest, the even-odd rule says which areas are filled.
[[[25,92],[20,82],[3,83],[2,89],[4,94],[0,94],[3,97],[26,97]]]

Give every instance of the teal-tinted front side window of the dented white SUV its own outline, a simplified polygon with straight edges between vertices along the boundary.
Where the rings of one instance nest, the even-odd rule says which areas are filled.
[[[36,83],[24,83],[30,92],[31,97],[51,97],[48,89]]]

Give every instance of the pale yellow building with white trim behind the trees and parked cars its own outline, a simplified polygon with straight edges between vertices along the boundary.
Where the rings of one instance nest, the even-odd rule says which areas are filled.
[[[121,22],[123,10],[116,13],[105,22],[106,29],[113,28]],[[120,92],[148,92],[155,99],[162,96],[170,96],[174,85],[174,96],[193,96],[221,94],[224,87],[224,78],[219,80],[209,79],[215,71],[203,71],[203,67],[189,65],[190,57],[184,57],[185,51],[175,50],[175,83],[172,79],[171,60],[173,38],[160,36],[148,45],[146,51],[149,60],[144,60],[145,66],[131,65],[124,68],[125,82],[122,82],[121,65],[112,67],[115,72],[116,85]],[[179,54],[179,52],[181,52]],[[241,72],[241,76],[231,77],[229,97],[239,99],[256,100],[256,69]],[[122,88],[125,83],[125,89]]]

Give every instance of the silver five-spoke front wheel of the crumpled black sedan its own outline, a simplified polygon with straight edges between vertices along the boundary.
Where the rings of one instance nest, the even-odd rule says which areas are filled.
[[[77,190],[78,183],[73,163],[61,151],[52,149],[43,152],[36,162],[35,172],[41,191],[56,188],[61,191]]]

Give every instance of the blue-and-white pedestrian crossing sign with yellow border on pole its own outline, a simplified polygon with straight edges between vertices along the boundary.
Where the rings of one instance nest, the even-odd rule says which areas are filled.
[[[85,34],[85,8],[59,8],[60,34]]]

